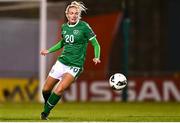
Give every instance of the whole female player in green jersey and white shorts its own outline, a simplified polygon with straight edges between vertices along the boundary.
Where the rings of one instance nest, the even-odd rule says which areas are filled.
[[[100,63],[100,46],[96,35],[88,23],[81,21],[81,12],[86,11],[81,2],[73,1],[67,6],[65,14],[68,22],[61,27],[62,39],[48,50],[41,50],[41,55],[47,55],[63,47],[43,86],[42,94],[45,100],[41,119],[47,120],[51,109],[58,103],[63,92],[80,75],[86,57],[89,41],[94,47],[93,62]],[[59,82],[55,89],[54,86]],[[53,92],[51,92],[53,89]]]

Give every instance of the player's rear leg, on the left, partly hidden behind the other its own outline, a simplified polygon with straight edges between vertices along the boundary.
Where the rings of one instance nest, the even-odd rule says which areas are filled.
[[[51,76],[47,77],[47,79],[46,79],[46,81],[44,83],[44,86],[43,86],[43,90],[42,90],[42,95],[43,95],[45,104],[46,104],[48,98],[51,95],[52,89],[54,88],[54,86],[56,85],[56,83],[58,81],[59,81],[58,79],[55,79],[55,78],[53,78]]]

